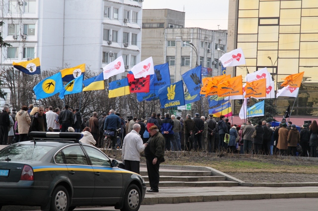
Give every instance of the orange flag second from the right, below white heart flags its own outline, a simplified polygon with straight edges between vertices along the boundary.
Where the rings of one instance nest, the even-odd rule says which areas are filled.
[[[266,78],[255,80],[252,82],[246,82],[245,96],[247,97],[266,97]]]

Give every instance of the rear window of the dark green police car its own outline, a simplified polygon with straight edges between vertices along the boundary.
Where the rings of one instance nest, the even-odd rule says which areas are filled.
[[[16,160],[40,160],[48,151],[54,146],[43,145],[26,145],[26,144],[13,144],[5,147],[0,151],[0,161],[9,157],[11,161]]]

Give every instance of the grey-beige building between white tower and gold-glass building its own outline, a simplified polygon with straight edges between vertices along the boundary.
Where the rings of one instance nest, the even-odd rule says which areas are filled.
[[[219,58],[226,51],[227,30],[185,28],[184,22],[184,12],[144,9],[142,60],[152,56],[155,65],[168,63],[171,82],[200,64],[213,69],[211,75],[221,74]]]

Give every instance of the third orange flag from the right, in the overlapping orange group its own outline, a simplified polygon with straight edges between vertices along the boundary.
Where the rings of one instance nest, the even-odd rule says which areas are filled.
[[[218,85],[218,96],[227,97],[243,94],[242,75],[230,78],[229,80]]]

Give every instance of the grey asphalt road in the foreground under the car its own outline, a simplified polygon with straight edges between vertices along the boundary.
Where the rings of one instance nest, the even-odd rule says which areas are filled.
[[[317,199],[271,199],[184,204],[143,205],[139,211],[317,211]],[[33,210],[34,211],[34,210]],[[39,210],[37,210],[39,211]],[[116,211],[113,208],[86,208],[74,211]]]

